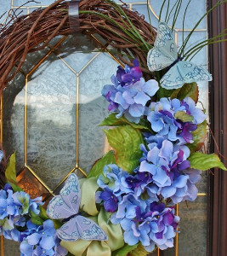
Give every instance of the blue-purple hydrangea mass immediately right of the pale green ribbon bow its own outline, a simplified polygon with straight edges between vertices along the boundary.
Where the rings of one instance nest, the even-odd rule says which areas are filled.
[[[159,201],[152,174],[135,172],[130,175],[116,165],[105,166],[97,181],[103,189],[97,192],[97,202],[104,201],[105,210],[114,212],[111,222],[121,224],[128,245],[140,241],[148,252],[155,245],[173,247],[179,217],[174,215],[173,207]]]

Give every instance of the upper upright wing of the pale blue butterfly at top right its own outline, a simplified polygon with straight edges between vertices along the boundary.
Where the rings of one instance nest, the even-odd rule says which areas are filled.
[[[162,70],[170,66],[177,58],[178,49],[173,33],[165,22],[160,22],[154,48],[150,49],[147,55],[147,66],[152,72]]]

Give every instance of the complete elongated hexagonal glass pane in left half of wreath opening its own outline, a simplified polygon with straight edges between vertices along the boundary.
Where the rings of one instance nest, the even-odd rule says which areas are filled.
[[[76,84],[54,54],[27,84],[27,165],[52,189],[76,165]]]

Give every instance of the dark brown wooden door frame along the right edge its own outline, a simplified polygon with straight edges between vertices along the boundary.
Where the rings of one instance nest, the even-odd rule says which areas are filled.
[[[210,9],[218,0],[209,0]],[[209,38],[227,27],[227,3],[222,4],[208,16]],[[208,48],[210,72],[209,113],[211,128],[219,151],[227,157],[227,42],[213,44]],[[210,137],[210,153],[218,154]],[[227,160],[224,160],[227,166]],[[227,172],[220,169],[209,174],[207,205],[207,255],[225,256],[227,252]]]

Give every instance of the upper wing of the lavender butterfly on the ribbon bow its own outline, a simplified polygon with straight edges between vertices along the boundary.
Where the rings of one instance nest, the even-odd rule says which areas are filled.
[[[71,173],[60,195],[48,203],[47,213],[50,218],[69,218],[77,214],[81,201],[81,190],[77,175]]]

